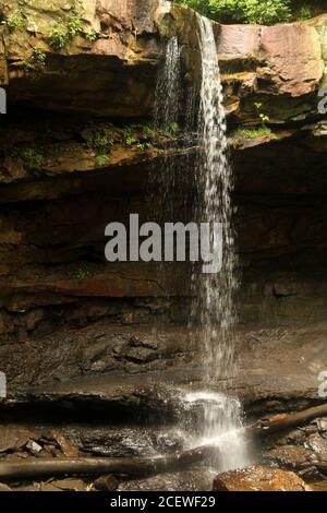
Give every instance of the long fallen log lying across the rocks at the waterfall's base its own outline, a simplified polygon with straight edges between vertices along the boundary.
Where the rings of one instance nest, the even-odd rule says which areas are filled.
[[[242,428],[245,437],[267,437],[284,429],[302,426],[317,417],[327,416],[327,404],[290,415],[277,415]],[[65,460],[35,460],[33,462],[0,463],[0,480],[34,479],[60,475],[125,474],[133,477],[185,469],[206,460],[219,460],[219,445],[209,444],[167,456],[144,457],[84,457]]]

